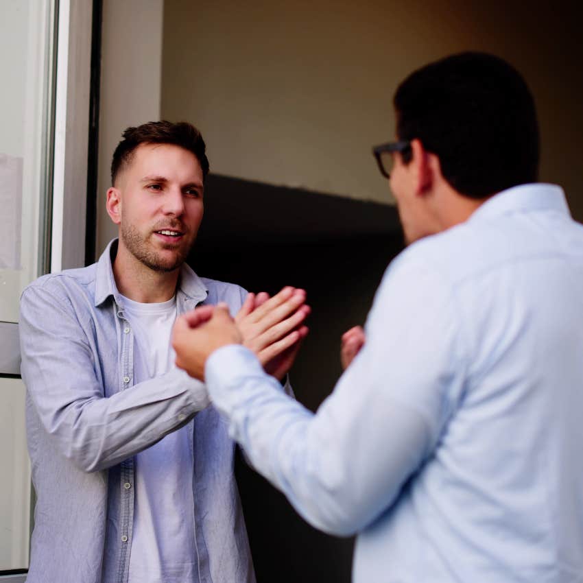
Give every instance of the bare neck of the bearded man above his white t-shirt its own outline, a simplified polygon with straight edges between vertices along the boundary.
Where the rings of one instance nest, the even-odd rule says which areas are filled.
[[[165,302],[176,294],[180,267],[171,272],[152,270],[121,245],[113,262],[113,276],[119,292],[143,304]]]

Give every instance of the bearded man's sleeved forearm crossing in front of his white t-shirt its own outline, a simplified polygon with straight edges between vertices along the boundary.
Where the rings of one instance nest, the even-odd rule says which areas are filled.
[[[110,397],[88,396],[71,384],[69,398],[29,373],[23,365],[23,379],[49,437],[62,455],[87,472],[150,447],[209,403],[204,385],[179,370]]]

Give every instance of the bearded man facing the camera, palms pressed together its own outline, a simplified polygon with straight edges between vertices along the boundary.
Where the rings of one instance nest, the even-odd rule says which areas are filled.
[[[247,296],[185,264],[208,171],[189,123],[128,128],[107,193],[119,239],[94,265],[23,292],[29,583],[254,581],[234,444],[204,385],[174,366],[171,328],[177,314],[225,302],[281,378],[309,308],[302,290]]]

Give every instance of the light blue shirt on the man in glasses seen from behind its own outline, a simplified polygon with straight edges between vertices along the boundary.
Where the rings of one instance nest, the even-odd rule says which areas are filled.
[[[246,348],[206,382],[312,525],[358,533],[356,583],[583,581],[583,226],[523,185],[388,268],[316,415]]]

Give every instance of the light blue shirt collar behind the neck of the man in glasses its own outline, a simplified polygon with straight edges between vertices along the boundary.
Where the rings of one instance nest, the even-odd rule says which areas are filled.
[[[570,215],[560,186],[544,183],[519,185],[503,190],[481,204],[468,219],[473,222],[521,211],[557,211]]]

